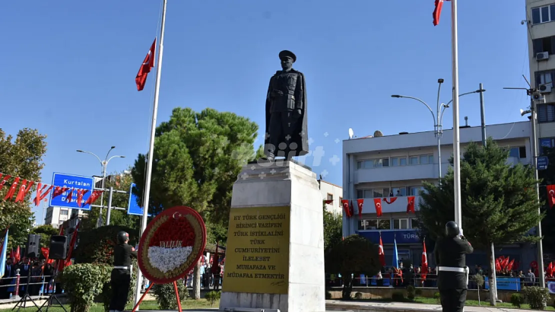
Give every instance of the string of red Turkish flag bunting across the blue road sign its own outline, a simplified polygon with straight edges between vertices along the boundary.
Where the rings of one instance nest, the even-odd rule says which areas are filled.
[[[8,181],[12,182],[8,192],[6,193],[6,196],[4,196],[4,201],[14,200],[14,202],[16,203],[23,202],[25,201],[27,195],[36,192],[36,196],[33,199],[33,203],[35,204],[35,206],[38,206],[43,200],[46,202],[48,200],[47,196],[51,192],[52,198],[56,198],[69,191],[69,193],[65,197],[65,202],[71,202],[73,200],[73,197],[75,196],[75,199],[77,200],[77,206],[81,207],[81,205],[83,204],[83,207],[86,207],[88,204],[93,204],[100,196],[100,194],[104,192],[103,190],[95,190],[91,193],[87,201],[82,203],[83,196],[88,193],[89,190],[84,190],[83,188],[77,187],[49,185],[47,183],[42,183],[39,181],[27,180],[21,177],[13,177],[11,175],[6,175],[0,172],[0,191],[2,191],[2,188],[4,188],[4,186],[10,185]],[[34,191],[32,191],[33,187]]]

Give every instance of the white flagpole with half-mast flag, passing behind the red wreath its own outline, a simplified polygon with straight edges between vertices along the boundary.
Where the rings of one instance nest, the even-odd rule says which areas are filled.
[[[143,234],[147,228],[148,206],[150,201],[150,180],[152,178],[152,160],[154,158],[154,138],[156,134],[156,117],[158,115],[158,96],[160,94],[160,76],[162,75],[162,54],[164,52],[164,26],[166,21],[166,4],[167,0],[163,0],[162,7],[162,23],[160,27],[160,40],[158,41],[158,61],[156,65],[156,86],[154,89],[154,107],[152,109],[152,125],[150,129],[150,147],[147,158],[147,177],[144,185],[143,200],[143,218],[141,222],[139,236]],[[142,288],[143,274],[140,269],[137,270],[137,285],[135,288],[135,304],[139,302],[140,290]]]

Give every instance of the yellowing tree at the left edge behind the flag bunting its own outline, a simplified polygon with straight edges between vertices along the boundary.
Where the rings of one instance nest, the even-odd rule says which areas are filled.
[[[34,221],[30,200],[35,193],[29,192],[19,203],[14,202],[15,196],[11,201],[3,201],[3,198],[14,181],[13,177],[40,181],[44,167],[42,157],[46,153],[45,140],[46,136],[33,129],[19,130],[15,138],[0,129],[0,172],[12,176],[0,190],[0,231],[9,227],[8,248],[24,245],[27,241]]]

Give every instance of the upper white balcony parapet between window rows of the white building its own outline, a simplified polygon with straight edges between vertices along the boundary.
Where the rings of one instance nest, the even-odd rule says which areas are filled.
[[[445,176],[449,163],[441,164],[441,173]],[[437,163],[430,165],[409,165],[398,167],[383,167],[372,169],[355,170],[354,182],[369,183],[382,181],[401,181],[401,180],[429,180],[437,179]]]

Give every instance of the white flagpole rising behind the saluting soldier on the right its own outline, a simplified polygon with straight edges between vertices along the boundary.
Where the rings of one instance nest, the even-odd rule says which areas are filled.
[[[453,74],[453,177],[455,185],[455,222],[462,230],[461,212],[461,146],[458,126],[458,34],[457,34],[457,0],[451,0],[451,55]]]

